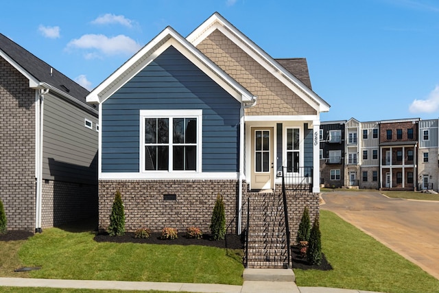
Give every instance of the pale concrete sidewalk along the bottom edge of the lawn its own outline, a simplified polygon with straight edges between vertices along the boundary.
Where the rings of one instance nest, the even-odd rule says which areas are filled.
[[[0,286],[95,290],[158,290],[202,293],[366,293],[335,288],[298,287],[292,281],[244,281],[243,285],[0,278]],[[372,292],[367,292],[372,293]]]

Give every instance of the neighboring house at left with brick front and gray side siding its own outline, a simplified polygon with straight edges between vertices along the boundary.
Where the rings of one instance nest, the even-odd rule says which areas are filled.
[[[96,215],[98,113],[88,91],[0,34],[0,198],[8,230]]]

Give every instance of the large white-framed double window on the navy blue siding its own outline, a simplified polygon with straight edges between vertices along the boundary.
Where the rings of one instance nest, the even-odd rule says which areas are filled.
[[[142,172],[200,172],[202,110],[141,110]]]

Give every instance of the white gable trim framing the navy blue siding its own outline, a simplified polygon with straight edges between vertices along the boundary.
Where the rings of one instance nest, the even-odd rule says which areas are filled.
[[[86,101],[99,104],[104,102],[171,45],[176,47],[181,54],[191,60],[239,102],[252,102],[254,100],[254,96],[241,84],[230,78],[175,30],[167,27],[88,94]]]

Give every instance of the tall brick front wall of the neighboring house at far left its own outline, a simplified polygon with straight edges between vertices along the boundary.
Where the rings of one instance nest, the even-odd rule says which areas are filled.
[[[35,231],[35,91],[0,58],[0,198],[8,230]]]

